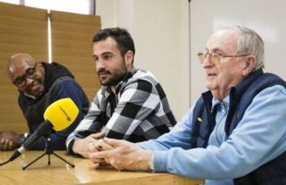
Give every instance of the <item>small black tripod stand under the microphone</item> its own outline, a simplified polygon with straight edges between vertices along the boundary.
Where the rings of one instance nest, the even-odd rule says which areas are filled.
[[[52,139],[50,138],[50,135],[48,135],[46,137],[46,148],[45,148],[45,153],[43,153],[42,155],[40,155],[39,157],[37,157],[36,159],[32,160],[32,162],[30,162],[29,164],[27,164],[26,166],[23,166],[23,171],[26,170],[26,168],[28,168],[29,166],[31,166],[32,164],[34,164],[35,162],[37,162],[37,160],[41,159],[41,157],[44,157],[44,155],[48,155],[48,165],[50,165],[50,155],[55,155],[55,157],[61,159],[63,162],[66,162],[68,165],[70,165],[72,168],[75,168],[75,164],[72,164],[70,162],[68,162],[66,159],[64,159],[63,157],[57,155],[56,153],[54,153],[54,148],[53,148],[53,144],[52,144]]]

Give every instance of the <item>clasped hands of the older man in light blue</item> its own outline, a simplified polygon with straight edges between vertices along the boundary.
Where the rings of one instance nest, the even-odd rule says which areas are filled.
[[[131,142],[117,139],[104,139],[106,144],[115,147],[112,150],[90,153],[94,168],[102,166],[104,161],[119,171],[151,171],[151,150],[143,150]]]

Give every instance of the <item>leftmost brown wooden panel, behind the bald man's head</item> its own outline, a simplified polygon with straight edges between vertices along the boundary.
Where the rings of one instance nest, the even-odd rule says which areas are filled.
[[[0,130],[28,130],[17,103],[17,88],[6,74],[7,62],[17,52],[47,61],[47,37],[46,10],[0,3]]]

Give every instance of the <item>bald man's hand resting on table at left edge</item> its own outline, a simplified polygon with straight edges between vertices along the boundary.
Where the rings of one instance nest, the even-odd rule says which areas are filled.
[[[17,148],[16,142],[18,134],[14,131],[3,131],[0,133],[0,150],[13,150]]]

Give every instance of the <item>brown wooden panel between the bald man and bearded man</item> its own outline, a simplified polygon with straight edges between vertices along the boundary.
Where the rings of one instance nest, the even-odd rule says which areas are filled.
[[[53,61],[68,67],[92,99],[100,88],[92,58],[92,38],[100,17],[51,11]]]

